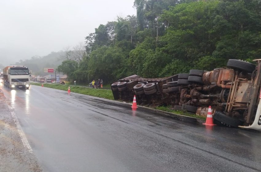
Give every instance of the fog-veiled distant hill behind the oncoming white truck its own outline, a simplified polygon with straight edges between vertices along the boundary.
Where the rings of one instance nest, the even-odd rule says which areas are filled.
[[[22,65],[29,68],[33,75],[44,76],[47,73],[44,72],[44,68],[56,69],[62,63],[61,57],[64,55],[63,51],[51,52],[47,56],[33,56],[29,60],[20,60],[15,65]]]

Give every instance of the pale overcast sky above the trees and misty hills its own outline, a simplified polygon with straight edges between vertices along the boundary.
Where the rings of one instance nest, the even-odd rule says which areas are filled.
[[[0,0],[0,64],[84,42],[99,24],[136,15],[134,0]]]

